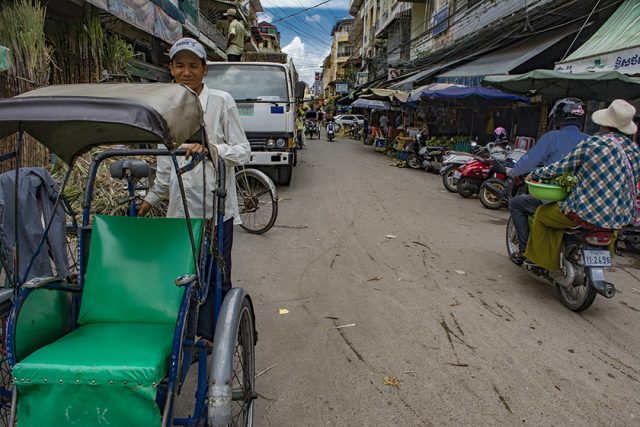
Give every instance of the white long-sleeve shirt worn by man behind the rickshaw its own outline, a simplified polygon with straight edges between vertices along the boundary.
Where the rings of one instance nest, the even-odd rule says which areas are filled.
[[[227,92],[209,89],[206,85],[200,93],[200,103],[204,112],[205,130],[209,145],[215,145],[218,156],[226,165],[225,221],[234,218],[234,224],[240,224],[240,212],[236,196],[234,166],[247,163],[251,157],[251,146],[242,129],[240,114],[236,103]],[[188,161],[178,157],[180,167]],[[205,169],[206,187],[202,182],[202,167]],[[193,170],[182,175],[187,207],[192,218],[202,218],[203,195],[206,200],[206,218],[213,218],[213,190],[216,188],[216,173],[211,160],[199,163]],[[206,193],[203,190],[206,189]],[[158,157],[158,170],[153,187],[145,197],[150,205],[169,197],[167,217],[184,217],[184,208],[180,196],[178,177],[169,156]]]

